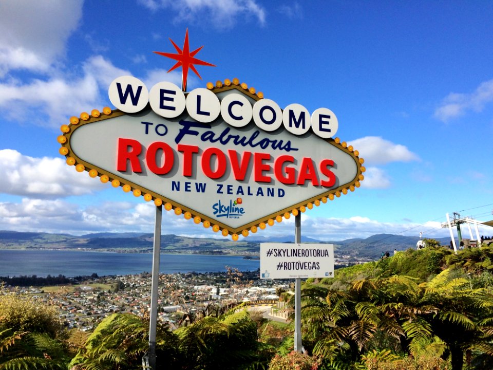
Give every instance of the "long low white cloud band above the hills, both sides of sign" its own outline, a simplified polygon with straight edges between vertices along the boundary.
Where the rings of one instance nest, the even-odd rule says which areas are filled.
[[[18,203],[0,202],[0,225],[3,225],[4,230],[62,232],[73,235],[101,231],[154,232],[156,209],[153,202],[98,200],[98,195],[93,199],[94,203],[86,207],[60,199],[24,198]],[[195,225],[192,220],[176,216],[173,211],[163,210],[162,216],[162,234],[223,239],[220,233]],[[426,237],[448,236],[448,230],[442,229],[439,222],[430,221],[421,225],[411,222],[382,223],[362,215],[325,218],[311,217],[309,212],[306,212],[301,214],[301,226],[302,236],[326,242],[366,238],[381,233],[417,235],[420,230],[428,230]],[[286,235],[293,235],[294,242],[294,217],[283,220],[280,224],[276,223],[266,230],[259,230],[255,234],[266,237]],[[246,240],[251,239],[247,237]]]

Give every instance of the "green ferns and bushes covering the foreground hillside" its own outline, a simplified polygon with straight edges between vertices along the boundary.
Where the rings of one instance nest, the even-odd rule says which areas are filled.
[[[160,323],[158,368],[180,370],[471,370],[493,368],[493,247],[454,254],[430,240],[302,284],[302,342],[292,323],[244,307]],[[292,309],[292,295],[281,294]],[[290,308],[291,307],[291,308]],[[142,369],[148,318],[113,313],[92,332],[64,328],[53,307],[0,295],[0,370]]]

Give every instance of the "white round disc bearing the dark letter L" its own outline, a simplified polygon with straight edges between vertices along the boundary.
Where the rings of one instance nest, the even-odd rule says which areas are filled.
[[[197,88],[186,96],[186,110],[194,120],[209,123],[221,112],[221,103],[211,90]]]

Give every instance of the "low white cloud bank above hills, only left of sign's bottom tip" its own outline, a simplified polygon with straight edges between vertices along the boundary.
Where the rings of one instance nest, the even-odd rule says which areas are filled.
[[[0,202],[0,225],[4,230],[73,235],[101,231],[154,232],[156,208],[153,202],[145,202],[143,198],[137,202],[102,198],[96,194],[92,198],[94,203],[85,207],[61,199],[23,198],[18,203]],[[223,238],[219,233],[212,232],[212,228],[205,230],[192,220],[176,216],[173,211],[163,210],[162,218],[162,234]]]

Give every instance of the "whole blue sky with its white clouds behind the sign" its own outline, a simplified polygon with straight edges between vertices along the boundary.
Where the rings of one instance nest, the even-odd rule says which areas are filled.
[[[491,19],[487,1],[3,1],[0,229],[153,231],[153,205],[67,166],[56,137],[111,106],[116,77],[179,84],[153,51],[175,52],[168,38],[182,46],[186,28],[216,65],[188,90],[237,77],[281,107],[327,107],[365,159],[362,187],[304,213],[302,234],[444,237],[447,212],[490,220]],[[216,236],[174,214],[163,233]],[[293,233],[293,219],[261,233]]]

